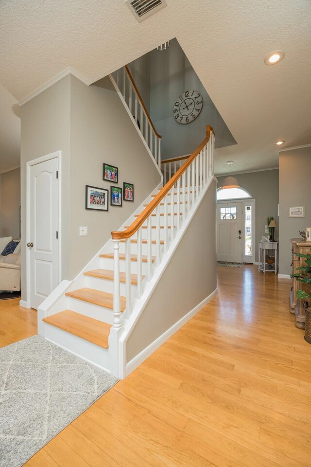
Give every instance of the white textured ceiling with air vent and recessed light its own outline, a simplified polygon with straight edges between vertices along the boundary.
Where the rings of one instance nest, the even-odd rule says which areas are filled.
[[[217,173],[275,167],[278,139],[311,143],[309,0],[167,3],[138,23],[123,0],[2,0],[0,83],[21,100],[69,66],[94,82],[176,37],[238,143]]]

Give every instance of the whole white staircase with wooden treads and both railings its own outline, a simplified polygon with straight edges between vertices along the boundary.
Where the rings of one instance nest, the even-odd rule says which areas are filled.
[[[128,92],[131,96],[128,85],[132,81],[126,76],[123,72],[122,99],[127,108],[133,108],[133,90],[132,101],[126,98]],[[119,89],[120,79],[115,78]],[[139,132],[147,128],[142,135],[147,135],[149,153],[160,167],[160,136],[150,126],[137,95],[131,115]],[[39,334],[117,377],[129,373],[127,339],[215,180],[214,139],[207,126],[204,141],[178,162],[178,169],[173,162],[168,177],[164,168],[169,179],[164,187],[151,193],[126,225],[111,233],[111,239],[73,281],[56,287],[38,308]]]

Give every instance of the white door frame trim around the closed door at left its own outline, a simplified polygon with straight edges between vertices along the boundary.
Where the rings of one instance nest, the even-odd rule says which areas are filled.
[[[58,281],[62,279],[62,151],[55,151],[51,154],[38,157],[26,163],[26,244],[31,241],[30,238],[30,170],[33,165],[47,162],[52,159],[58,160]],[[30,250],[26,248],[26,301],[27,308],[31,308],[31,268],[30,268]]]

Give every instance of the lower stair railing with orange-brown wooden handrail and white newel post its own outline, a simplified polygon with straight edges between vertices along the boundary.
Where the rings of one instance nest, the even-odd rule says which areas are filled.
[[[159,191],[155,198],[137,217],[131,226],[124,231],[111,232],[114,244],[114,298],[113,298],[113,327],[117,331],[121,327],[120,310],[120,242],[125,241],[125,317],[130,318],[132,313],[131,299],[131,239],[137,234],[137,298],[143,293],[143,284],[146,285],[152,279],[152,263],[158,266],[161,262],[161,245],[163,251],[168,251],[173,242],[176,232],[180,229],[185,219],[195,207],[202,190],[214,175],[214,141],[213,128],[207,125],[207,136],[197,149],[188,157],[181,167],[174,173],[172,178]],[[174,199],[176,195],[176,201]],[[160,214],[160,206],[163,213]],[[155,217],[155,225],[152,218]],[[163,217],[163,240],[160,235],[160,219]],[[147,225],[144,225],[147,223]],[[147,230],[147,255],[142,257],[142,230]],[[152,229],[155,234],[155,257],[152,257]],[[142,261],[147,262],[146,280],[143,283]]]

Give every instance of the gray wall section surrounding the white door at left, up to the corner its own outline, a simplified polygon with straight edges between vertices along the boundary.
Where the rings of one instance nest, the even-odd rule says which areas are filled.
[[[21,107],[21,287],[26,300],[26,162],[62,151],[62,267],[69,279],[70,75]]]

